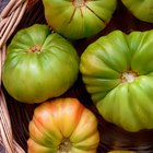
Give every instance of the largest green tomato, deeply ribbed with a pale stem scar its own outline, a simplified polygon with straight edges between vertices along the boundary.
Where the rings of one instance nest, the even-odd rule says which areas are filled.
[[[99,114],[127,131],[153,129],[153,31],[114,31],[91,44],[80,70]]]

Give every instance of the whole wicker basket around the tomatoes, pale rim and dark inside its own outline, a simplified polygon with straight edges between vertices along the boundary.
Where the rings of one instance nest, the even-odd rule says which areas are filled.
[[[34,23],[46,23],[40,0],[10,0],[9,3],[5,1],[5,8],[1,9],[0,14],[0,68],[5,58],[7,45],[16,31],[31,26]],[[114,30],[129,33],[134,30],[145,31],[151,28],[153,28],[153,24],[134,19],[118,0],[118,7],[113,20],[104,31],[91,38],[72,43],[79,55],[81,55],[89,44]],[[61,96],[79,98],[83,105],[96,115],[101,132],[98,153],[106,153],[110,150],[132,150],[139,153],[153,153],[153,130],[130,133],[105,121],[93,105],[81,80],[81,74],[79,74],[75,84]],[[27,151],[27,127],[36,104],[17,103],[7,93],[2,83],[0,101],[0,153],[24,153]]]

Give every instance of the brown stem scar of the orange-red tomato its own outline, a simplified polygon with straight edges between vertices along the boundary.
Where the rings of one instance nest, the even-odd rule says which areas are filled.
[[[61,143],[59,144],[58,153],[68,153],[71,149],[71,142],[69,138],[63,138]]]

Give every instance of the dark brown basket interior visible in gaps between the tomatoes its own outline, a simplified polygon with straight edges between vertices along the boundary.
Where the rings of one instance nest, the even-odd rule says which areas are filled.
[[[42,1],[38,1],[31,10],[24,14],[16,31],[31,26],[35,23],[46,24]],[[120,30],[125,33],[130,33],[132,31],[148,31],[152,28],[153,24],[137,20],[122,5],[120,0],[118,0],[118,7],[113,15],[111,21],[101,33],[91,38],[74,40],[72,44],[76,48],[79,56],[81,56],[89,44],[97,39],[99,36],[106,35],[114,30]],[[13,99],[5,91],[4,94],[7,97],[14,138],[17,143],[26,151],[26,140],[28,139],[28,122],[32,119],[34,108],[38,104],[19,103]],[[106,153],[107,151],[119,149],[132,150],[137,151],[138,153],[153,153],[153,130],[142,130],[136,133],[130,133],[116,127],[115,125],[105,121],[93,105],[91,96],[85,90],[80,73],[75,84],[69,91],[67,91],[67,93],[61,95],[61,97],[76,97],[85,107],[91,109],[96,115],[98,119],[98,130],[101,133],[101,142],[97,153]]]

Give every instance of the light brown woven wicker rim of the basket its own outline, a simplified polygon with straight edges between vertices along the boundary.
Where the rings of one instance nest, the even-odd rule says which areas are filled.
[[[31,9],[36,1],[37,0],[10,0],[2,10],[0,14],[0,72],[5,58],[7,40],[15,31],[24,12]],[[5,153],[25,152],[13,138],[11,120],[2,87],[0,89],[0,144],[4,146]]]

